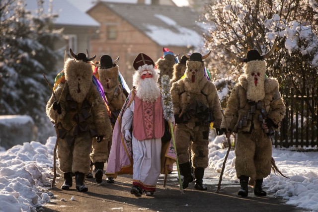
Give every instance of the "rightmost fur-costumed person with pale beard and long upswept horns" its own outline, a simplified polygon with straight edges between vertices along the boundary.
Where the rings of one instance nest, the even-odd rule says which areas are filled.
[[[253,49],[247,52],[246,58],[234,56],[245,63],[244,73],[228,99],[226,119],[223,118],[221,128],[238,134],[235,168],[240,183],[238,195],[243,197],[248,195],[248,184],[254,186],[255,195],[266,196],[262,190],[263,178],[270,174],[271,168],[281,173],[272,158],[270,137],[280,127],[285,116],[285,104],[277,79],[265,74],[264,61],[274,52],[275,46],[276,40],[265,55]],[[226,135],[229,138],[231,133]]]

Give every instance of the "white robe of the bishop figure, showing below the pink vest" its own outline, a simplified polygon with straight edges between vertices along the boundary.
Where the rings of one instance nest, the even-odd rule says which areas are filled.
[[[135,101],[122,116],[122,132],[131,129],[134,109]],[[156,188],[160,175],[161,139],[139,141],[133,134],[132,149],[134,159],[133,181],[140,183],[144,190]]]

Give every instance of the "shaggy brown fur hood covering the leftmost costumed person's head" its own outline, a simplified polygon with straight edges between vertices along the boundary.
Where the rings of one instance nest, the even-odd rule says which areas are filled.
[[[92,84],[93,72],[91,65],[82,61],[68,59],[64,64],[64,72],[72,98],[77,102],[82,102]]]

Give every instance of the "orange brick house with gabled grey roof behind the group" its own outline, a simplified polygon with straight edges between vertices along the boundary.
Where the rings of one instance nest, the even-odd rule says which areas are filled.
[[[99,59],[104,54],[113,60],[120,57],[119,70],[132,84],[133,61],[143,52],[155,62],[163,56],[162,48],[183,54],[203,46],[203,29],[198,24],[199,14],[189,7],[178,7],[153,0],[137,3],[98,1],[86,11],[100,23],[99,34],[91,41],[91,51]]]

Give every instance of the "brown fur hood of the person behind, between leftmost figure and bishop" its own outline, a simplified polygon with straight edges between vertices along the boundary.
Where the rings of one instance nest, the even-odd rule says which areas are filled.
[[[110,69],[98,68],[99,81],[103,85],[104,90],[111,89],[119,85],[119,69],[118,65]]]

